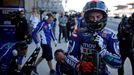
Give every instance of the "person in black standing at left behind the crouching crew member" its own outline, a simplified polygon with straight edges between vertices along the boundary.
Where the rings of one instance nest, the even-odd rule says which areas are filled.
[[[29,25],[24,15],[24,10],[18,11],[14,18],[15,24],[15,40],[16,41],[27,41],[29,35]]]

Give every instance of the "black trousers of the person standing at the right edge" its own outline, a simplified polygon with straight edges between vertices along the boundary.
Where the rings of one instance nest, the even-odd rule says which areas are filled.
[[[118,75],[124,75],[124,62],[126,58],[129,58],[131,67],[132,67],[132,75],[134,75],[134,51],[131,50],[131,45],[129,40],[120,41],[119,43],[120,53],[122,58],[121,68],[118,69]]]

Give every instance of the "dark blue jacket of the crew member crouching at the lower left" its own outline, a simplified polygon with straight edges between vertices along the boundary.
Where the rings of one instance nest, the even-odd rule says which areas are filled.
[[[0,47],[0,75],[14,75],[17,66],[22,65],[24,56],[13,54],[13,51],[19,53],[16,46],[16,43],[8,42]]]

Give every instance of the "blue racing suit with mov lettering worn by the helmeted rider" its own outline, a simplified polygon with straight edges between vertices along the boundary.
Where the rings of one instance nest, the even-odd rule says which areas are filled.
[[[95,41],[95,33],[104,40],[101,48]],[[90,75],[109,75],[106,64],[113,68],[121,65],[117,37],[108,28],[97,32],[85,29],[80,30],[79,33],[73,33],[69,40],[67,54],[67,57],[74,57],[79,62],[84,61],[94,65],[96,71],[90,72]],[[71,61],[74,61],[72,58],[68,58],[68,61],[68,64],[76,68],[78,61],[72,63]]]

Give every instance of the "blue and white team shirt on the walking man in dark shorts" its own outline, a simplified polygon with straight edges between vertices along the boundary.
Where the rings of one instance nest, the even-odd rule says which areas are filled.
[[[39,43],[39,38],[37,33],[40,34],[42,44],[51,45],[51,38],[53,40],[56,40],[52,31],[51,24],[48,24],[46,21],[40,22],[32,33],[35,44]]]

